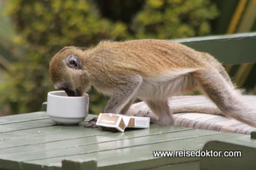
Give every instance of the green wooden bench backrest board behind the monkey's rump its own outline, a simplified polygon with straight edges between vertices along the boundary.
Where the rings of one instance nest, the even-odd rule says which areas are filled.
[[[256,32],[176,39],[195,50],[212,54],[224,65],[256,62]]]

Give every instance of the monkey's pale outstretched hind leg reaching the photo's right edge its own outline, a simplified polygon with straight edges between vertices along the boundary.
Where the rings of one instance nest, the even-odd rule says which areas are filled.
[[[256,127],[256,108],[248,105],[235,87],[214,68],[195,71],[193,75],[203,92],[212,99],[225,116]]]

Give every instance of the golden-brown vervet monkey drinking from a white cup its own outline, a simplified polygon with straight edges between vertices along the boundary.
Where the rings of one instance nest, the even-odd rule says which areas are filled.
[[[177,42],[103,41],[86,50],[66,47],[51,59],[49,76],[69,96],[80,96],[91,86],[110,96],[106,113],[125,114],[135,99],[142,99],[155,121],[166,125],[174,122],[168,98],[199,89],[225,116],[256,127],[256,108],[241,99],[224,67],[210,54]]]

